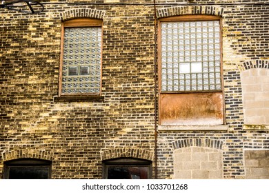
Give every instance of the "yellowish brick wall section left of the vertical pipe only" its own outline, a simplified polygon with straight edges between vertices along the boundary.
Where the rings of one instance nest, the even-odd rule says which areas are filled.
[[[152,9],[45,4],[41,14],[0,17],[0,174],[3,161],[23,157],[52,160],[52,179],[101,179],[113,150],[153,161]],[[103,19],[103,101],[54,101],[61,20],[77,17]]]

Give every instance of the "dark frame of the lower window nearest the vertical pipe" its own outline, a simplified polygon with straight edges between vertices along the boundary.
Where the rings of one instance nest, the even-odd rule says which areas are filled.
[[[108,159],[102,163],[102,179],[108,179],[108,167],[109,166],[141,166],[148,167],[148,179],[152,179],[152,161],[145,159],[134,158],[117,158]]]

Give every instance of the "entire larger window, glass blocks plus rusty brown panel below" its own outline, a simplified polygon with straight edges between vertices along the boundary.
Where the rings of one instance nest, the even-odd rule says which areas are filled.
[[[223,124],[220,17],[159,21],[160,124]]]

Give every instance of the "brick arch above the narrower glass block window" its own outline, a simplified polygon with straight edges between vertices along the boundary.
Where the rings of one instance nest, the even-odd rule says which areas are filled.
[[[64,12],[61,12],[60,18],[61,18],[61,21],[66,21],[68,19],[81,18],[81,17],[103,19],[104,15],[105,15],[105,11],[103,10],[77,8],[77,9],[71,9],[71,10],[66,10]]]

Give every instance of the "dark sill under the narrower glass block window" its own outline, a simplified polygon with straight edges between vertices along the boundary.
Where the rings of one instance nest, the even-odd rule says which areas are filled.
[[[86,102],[86,101],[104,101],[104,96],[94,95],[63,95],[54,96],[54,102]]]

